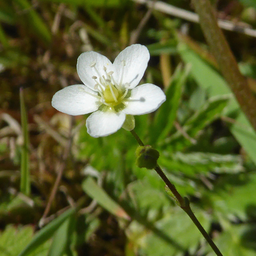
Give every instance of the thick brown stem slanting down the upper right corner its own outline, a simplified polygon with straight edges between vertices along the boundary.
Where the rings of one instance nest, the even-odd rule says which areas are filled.
[[[249,88],[247,79],[240,73],[228,43],[218,27],[216,14],[209,0],[191,0],[200,18],[205,39],[215,56],[220,71],[236,96],[242,111],[256,131],[256,98]]]

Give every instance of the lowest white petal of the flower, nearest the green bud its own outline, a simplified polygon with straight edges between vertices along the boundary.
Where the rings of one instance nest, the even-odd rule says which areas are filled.
[[[118,131],[125,120],[125,114],[112,111],[96,111],[86,120],[87,132],[94,138],[108,136]]]

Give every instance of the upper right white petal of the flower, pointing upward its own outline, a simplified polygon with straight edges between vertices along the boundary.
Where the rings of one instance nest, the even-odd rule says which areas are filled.
[[[121,79],[123,60],[125,66],[122,84],[129,83],[129,89],[133,89],[144,75],[147,62],[150,60],[150,53],[145,46],[139,44],[131,45],[121,51],[113,63],[116,69],[116,73],[113,74],[113,77],[117,83],[119,83]]]

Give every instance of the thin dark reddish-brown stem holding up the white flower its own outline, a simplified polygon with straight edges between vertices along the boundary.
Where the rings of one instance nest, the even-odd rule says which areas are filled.
[[[139,145],[144,146],[144,143],[141,141],[141,139],[139,138],[137,133],[134,130],[132,130],[131,133],[134,136],[134,138],[137,140]],[[214,241],[212,241],[212,239],[209,237],[208,233],[205,231],[205,229],[203,228],[203,226],[201,225],[201,223],[199,222],[197,217],[194,215],[193,211],[190,208],[188,199],[186,197],[183,198],[180,195],[180,193],[176,189],[175,185],[168,180],[168,178],[166,177],[166,175],[164,174],[163,170],[161,169],[161,167],[159,165],[156,166],[155,171],[161,177],[161,179],[164,181],[164,183],[170,189],[170,191],[172,191],[174,197],[178,201],[178,205],[181,207],[182,210],[184,210],[186,212],[188,217],[194,222],[194,224],[197,226],[198,230],[201,232],[201,234],[203,235],[205,240],[208,242],[208,244],[210,245],[212,250],[214,250],[214,252],[216,253],[217,256],[223,256],[222,253],[220,252],[219,248],[216,246]]]

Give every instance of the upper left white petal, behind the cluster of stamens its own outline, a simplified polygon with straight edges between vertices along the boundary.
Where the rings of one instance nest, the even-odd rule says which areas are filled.
[[[103,67],[106,67],[107,72],[114,72],[115,70],[113,70],[113,64],[107,57],[94,51],[82,53],[77,59],[77,73],[86,86],[95,90],[94,86],[96,82],[92,76],[97,76],[97,81],[99,81],[99,74],[95,68],[90,66],[92,62],[96,62],[95,68],[98,70],[100,76],[106,76]]]

